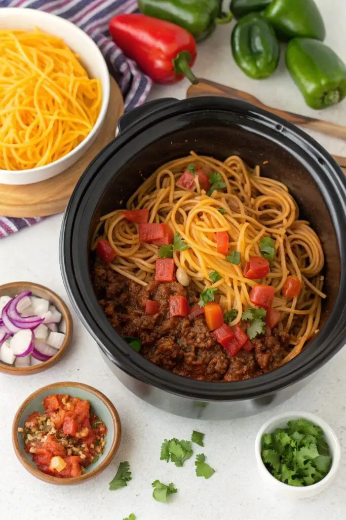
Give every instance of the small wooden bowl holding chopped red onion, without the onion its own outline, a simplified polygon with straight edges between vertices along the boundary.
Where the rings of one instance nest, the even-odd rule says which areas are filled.
[[[33,367],[15,367],[13,365],[7,365],[7,363],[3,363],[0,361],[0,372],[4,372],[5,374],[13,374],[13,375],[27,375],[27,374],[36,374],[37,372],[43,372],[48,368],[55,365],[65,354],[66,348],[70,344],[73,333],[73,321],[70,310],[68,310],[66,304],[62,301],[58,294],[54,293],[47,287],[43,285],[38,285],[33,282],[12,282],[5,283],[4,285],[0,285],[0,296],[17,296],[22,291],[31,291],[33,296],[39,296],[41,298],[45,298],[49,300],[49,302],[54,305],[62,315],[62,319],[65,320],[66,323],[66,332],[65,332],[65,340],[57,354],[48,361],[43,361],[39,365],[34,365]]]

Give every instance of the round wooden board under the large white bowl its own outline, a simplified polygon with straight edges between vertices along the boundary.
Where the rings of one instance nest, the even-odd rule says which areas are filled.
[[[114,139],[123,107],[120,89],[111,77],[109,106],[104,124],[83,157],[63,173],[40,183],[22,186],[0,184],[0,215],[44,217],[63,212],[81,174],[95,155]]]

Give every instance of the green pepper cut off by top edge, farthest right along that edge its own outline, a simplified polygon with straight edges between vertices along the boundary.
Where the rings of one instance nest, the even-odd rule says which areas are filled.
[[[314,0],[273,0],[264,12],[282,40],[296,36],[323,42],[326,32]]]

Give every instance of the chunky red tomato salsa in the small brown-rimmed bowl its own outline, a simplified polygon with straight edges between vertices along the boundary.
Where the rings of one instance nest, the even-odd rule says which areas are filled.
[[[69,395],[49,395],[44,412],[33,412],[18,428],[25,451],[38,469],[61,478],[80,476],[103,453],[107,427],[90,402]]]

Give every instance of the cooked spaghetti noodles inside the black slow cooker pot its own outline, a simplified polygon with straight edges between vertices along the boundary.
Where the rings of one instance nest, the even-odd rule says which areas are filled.
[[[184,189],[177,180],[190,163],[218,172],[225,187],[210,196],[201,189],[195,176],[193,189]],[[284,362],[300,353],[303,345],[318,332],[322,292],[324,255],[316,233],[309,223],[299,219],[298,206],[287,187],[279,181],[261,177],[259,167],[251,170],[239,157],[224,162],[211,157],[189,157],[164,164],[147,178],[127,203],[128,210],[148,209],[149,223],[168,224],[188,245],[174,251],[176,267],[182,267],[199,291],[216,288],[215,300],[225,311],[235,308],[236,325],[250,301],[250,292],[259,283],[275,288],[273,308],[281,311],[279,330],[289,332],[290,344]],[[220,212],[219,210],[222,210]],[[214,233],[227,231],[229,248],[240,253],[239,265],[229,263],[217,251]],[[260,256],[260,241],[271,237],[275,256],[265,279],[244,276],[244,263]],[[159,247],[140,242],[138,225],[124,218],[123,210],[101,217],[92,249],[100,238],[107,239],[116,253],[110,264],[113,270],[146,286],[155,274]],[[220,279],[213,283],[210,272]],[[301,283],[298,296],[286,298],[281,290],[289,275]]]

